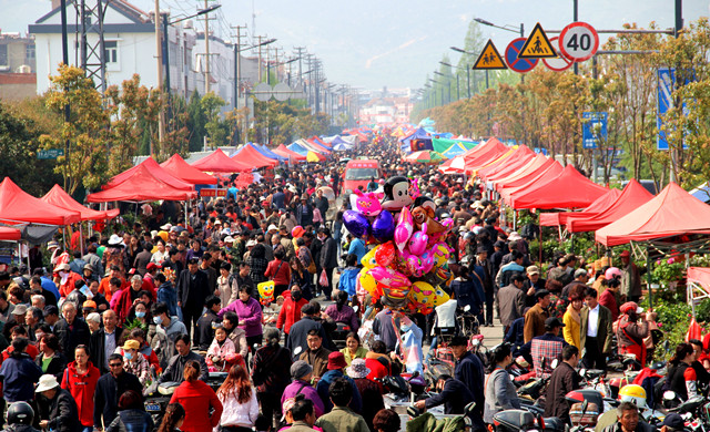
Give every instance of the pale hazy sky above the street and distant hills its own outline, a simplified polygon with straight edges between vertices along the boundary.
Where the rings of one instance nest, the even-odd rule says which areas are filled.
[[[92,1],[92,0],[90,0]],[[572,21],[571,0],[221,0],[213,25],[229,38],[230,25],[246,24],[252,34],[277,38],[276,45],[291,51],[307,47],[324,62],[327,79],[365,89],[419,88],[437,69],[443,54],[455,62],[450,45],[462,47],[470,20],[484,18],[526,33],[536,22],[561,30]],[[153,0],[132,0],[145,11]],[[619,29],[636,22],[646,27],[673,27],[673,0],[579,0],[579,20],[597,29]],[[710,16],[709,0],[684,0],[686,23]],[[26,32],[27,25],[50,10],[50,0],[0,0],[2,31]],[[204,2],[161,0],[173,16],[194,13]],[[513,32],[483,28],[503,54]],[[604,38],[604,37],[602,37]]]

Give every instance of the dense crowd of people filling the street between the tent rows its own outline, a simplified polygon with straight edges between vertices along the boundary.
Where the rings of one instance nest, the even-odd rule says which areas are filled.
[[[388,148],[359,152],[381,161],[384,178],[417,178],[436,217],[455,223],[444,287],[452,299],[433,313],[390,310],[357,291],[371,246],[344,228],[348,199],[338,206],[327,197],[328,188],[339,193],[342,168],[277,168],[242,188],[227,181],[226,197],[197,200],[187,214],[171,202],[146,204],[135,220],[105,227],[110,234],[64,233],[67,247],[38,245],[29,267],[0,272],[0,404],[24,402],[30,424],[67,432],[398,431],[382,379],[423,372],[424,348],[432,354],[446,343],[455,368],[415,407],[465,414],[477,402],[466,415],[483,431],[495,413],[518,407],[504,373],[515,358],[550,377],[546,414],[562,419],[564,394],[578,385],[574,368],[605,369],[613,336],[619,353],[645,364],[655,313],[638,306],[640,277],[628,253],[619,267],[594,270],[559,254],[542,275],[529,254],[534,226],[511,232],[480,189],[403,164]],[[265,281],[274,286],[270,301],[260,295]],[[503,327],[507,343],[493,350],[488,372],[468,349],[470,335],[440,337],[463,310],[480,326]],[[347,328],[343,348],[338,323]],[[674,390],[693,378],[682,364],[696,351],[686,351]],[[556,358],[561,367],[552,369]],[[212,372],[226,376],[217,388],[207,384]],[[172,382],[179,387],[153,425],[144,398]]]

